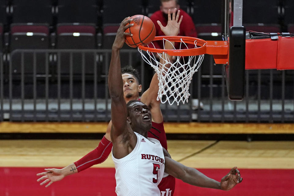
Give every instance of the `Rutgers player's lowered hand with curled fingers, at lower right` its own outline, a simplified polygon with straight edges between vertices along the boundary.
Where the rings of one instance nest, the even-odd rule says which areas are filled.
[[[222,190],[231,190],[236,184],[241,183],[242,180],[243,178],[241,178],[237,167],[233,167],[231,171],[221,179],[220,188]]]

